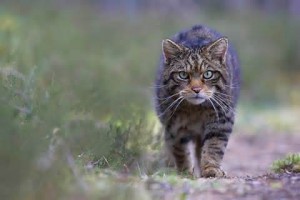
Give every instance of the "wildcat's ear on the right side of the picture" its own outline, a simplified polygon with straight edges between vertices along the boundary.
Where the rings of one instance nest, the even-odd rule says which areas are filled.
[[[213,60],[219,61],[221,64],[226,63],[226,54],[228,51],[228,39],[225,37],[222,37],[211,44],[209,44],[205,48],[207,54],[211,57]]]

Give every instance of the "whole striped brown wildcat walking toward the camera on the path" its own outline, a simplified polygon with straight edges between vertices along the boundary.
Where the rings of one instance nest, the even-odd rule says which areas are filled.
[[[239,74],[236,52],[210,28],[194,26],[163,40],[155,104],[179,172],[224,176],[220,166],[234,124]]]

